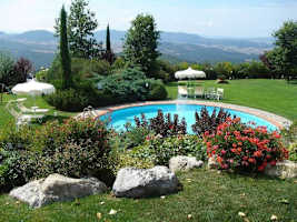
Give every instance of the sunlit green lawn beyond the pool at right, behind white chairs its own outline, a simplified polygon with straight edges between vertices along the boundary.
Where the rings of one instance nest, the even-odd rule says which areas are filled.
[[[222,102],[266,110],[290,120],[297,120],[297,84],[285,80],[231,80],[229,84],[216,81],[198,81],[205,88],[225,89]],[[170,99],[177,99],[177,82],[168,83]]]

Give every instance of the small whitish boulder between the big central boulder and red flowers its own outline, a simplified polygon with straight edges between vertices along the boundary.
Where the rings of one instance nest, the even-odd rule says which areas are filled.
[[[201,168],[204,161],[197,161],[194,157],[178,155],[169,160],[169,169],[172,172],[188,171],[194,168]]]

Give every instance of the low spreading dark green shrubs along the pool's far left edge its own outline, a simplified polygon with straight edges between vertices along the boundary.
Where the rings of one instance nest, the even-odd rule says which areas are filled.
[[[147,79],[137,69],[122,70],[120,73],[99,78],[101,89],[97,89],[96,81],[76,81],[73,89],[60,90],[47,95],[46,100],[63,111],[82,111],[88,105],[106,107],[117,103],[162,100],[167,91],[161,81]]]

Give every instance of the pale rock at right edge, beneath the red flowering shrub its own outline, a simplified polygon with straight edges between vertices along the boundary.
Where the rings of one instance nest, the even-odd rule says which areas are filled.
[[[265,174],[279,178],[297,178],[297,163],[285,160],[277,162],[274,167],[268,164]]]

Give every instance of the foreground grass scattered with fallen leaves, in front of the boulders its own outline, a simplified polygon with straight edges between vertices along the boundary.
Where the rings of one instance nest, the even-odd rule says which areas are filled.
[[[72,202],[53,203],[32,210],[8,195],[0,196],[0,221],[297,221],[297,183],[267,176],[247,176],[198,169],[179,173],[184,190],[165,199],[116,199],[92,195]],[[285,203],[285,202],[288,203]],[[105,202],[101,204],[101,202]],[[109,215],[109,211],[118,211]],[[191,214],[191,220],[187,215]]]

